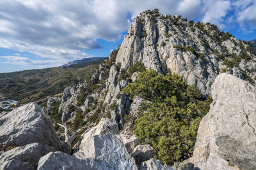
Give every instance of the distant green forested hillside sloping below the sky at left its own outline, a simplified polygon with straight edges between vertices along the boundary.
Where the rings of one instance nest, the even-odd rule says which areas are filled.
[[[63,92],[65,87],[84,81],[100,62],[86,62],[65,67],[33,69],[0,74],[0,93],[3,96],[29,103]]]

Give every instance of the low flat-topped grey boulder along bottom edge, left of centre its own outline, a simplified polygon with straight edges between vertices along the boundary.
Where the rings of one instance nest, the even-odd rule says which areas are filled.
[[[113,169],[104,160],[97,159],[77,159],[63,152],[50,152],[42,157],[38,162],[38,170],[94,170]]]

